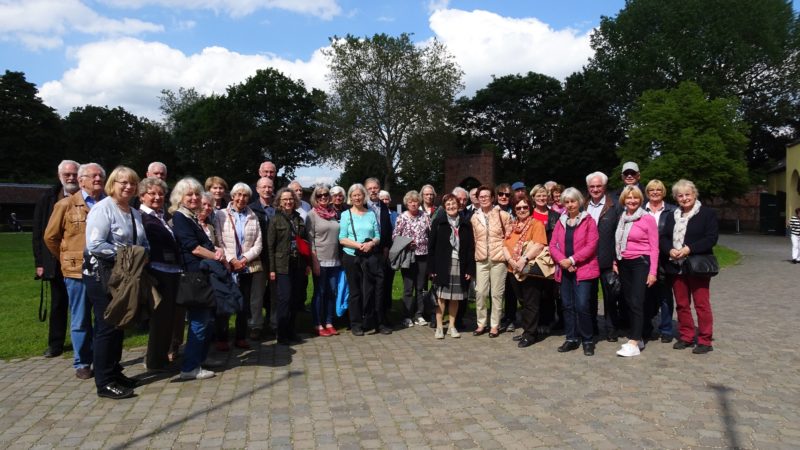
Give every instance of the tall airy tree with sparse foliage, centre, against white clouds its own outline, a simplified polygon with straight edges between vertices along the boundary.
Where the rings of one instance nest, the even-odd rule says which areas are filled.
[[[351,166],[377,152],[383,168],[373,175],[382,176],[387,189],[419,178],[411,161],[440,164],[425,159],[431,146],[419,143],[449,128],[446,119],[462,89],[462,71],[444,44],[418,46],[405,33],[347,35],[331,38],[326,55],[332,94],[323,140],[329,161]]]

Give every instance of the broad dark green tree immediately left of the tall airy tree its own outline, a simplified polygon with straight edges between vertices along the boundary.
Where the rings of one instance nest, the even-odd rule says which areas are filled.
[[[263,69],[228,87],[225,95],[165,93],[162,109],[174,123],[185,172],[250,182],[265,159],[288,178],[298,167],[317,161],[317,121],[324,97],[322,91],[306,90],[302,81]]]

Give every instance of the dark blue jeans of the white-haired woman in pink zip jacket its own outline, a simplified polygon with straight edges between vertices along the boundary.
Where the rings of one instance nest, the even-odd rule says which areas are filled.
[[[564,304],[564,332],[568,341],[593,342],[592,312],[589,307],[592,281],[577,281],[574,273],[566,272],[564,272],[561,279],[561,301]]]

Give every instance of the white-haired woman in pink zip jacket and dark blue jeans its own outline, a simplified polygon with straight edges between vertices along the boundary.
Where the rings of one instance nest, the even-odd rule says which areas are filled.
[[[550,254],[556,265],[556,281],[561,283],[566,341],[560,353],[576,350],[583,343],[583,354],[594,355],[592,313],[589,297],[592,281],[600,276],[597,264],[597,224],[580,208],[583,195],[575,188],[561,194],[565,212],[550,239]]]

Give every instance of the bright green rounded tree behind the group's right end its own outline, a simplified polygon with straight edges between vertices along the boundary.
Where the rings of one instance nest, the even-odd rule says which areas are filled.
[[[738,106],[733,97],[709,100],[692,82],[645,91],[631,111],[619,157],[637,161],[643,179],[669,185],[686,178],[704,197],[733,198],[748,188],[747,124]]]

